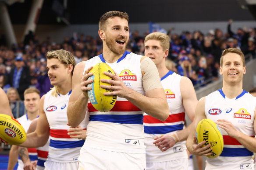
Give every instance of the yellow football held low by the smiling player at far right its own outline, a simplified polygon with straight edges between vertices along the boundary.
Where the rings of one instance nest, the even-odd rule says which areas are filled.
[[[199,121],[196,127],[196,139],[197,143],[206,141],[204,146],[210,144],[211,155],[207,156],[209,158],[216,158],[220,156],[223,150],[223,136],[217,126],[217,124],[210,119],[203,119]],[[202,146],[203,147],[203,146]],[[209,149],[210,149],[209,148]]]

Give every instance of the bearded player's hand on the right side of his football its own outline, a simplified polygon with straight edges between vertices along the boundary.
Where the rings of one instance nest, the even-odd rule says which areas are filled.
[[[100,81],[103,83],[109,83],[114,86],[107,86],[107,85],[101,85],[103,89],[109,89],[114,90],[112,92],[104,93],[105,96],[111,96],[111,95],[117,95],[118,97],[125,97],[128,94],[128,90],[130,88],[126,87],[124,82],[121,80],[121,78],[118,76],[117,72],[114,71],[114,74],[104,72],[105,75],[110,76],[111,79],[101,79]]]

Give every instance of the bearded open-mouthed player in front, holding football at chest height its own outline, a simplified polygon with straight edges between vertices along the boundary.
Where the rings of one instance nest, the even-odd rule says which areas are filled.
[[[74,70],[72,93],[68,105],[68,123],[75,127],[90,119],[87,138],[81,149],[78,170],[143,170],[146,168],[143,111],[162,121],[168,117],[168,105],[154,63],[145,56],[125,51],[129,40],[128,14],[110,11],[100,17],[98,31],[103,41],[103,53]],[[117,95],[114,108],[102,113],[92,107],[87,95],[89,70],[98,62],[107,63],[114,74],[101,86],[114,90],[104,95]],[[120,77],[129,76],[122,80]]]

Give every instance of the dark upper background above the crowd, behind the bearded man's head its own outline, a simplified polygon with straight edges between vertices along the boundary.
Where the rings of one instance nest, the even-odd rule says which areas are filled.
[[[31,4],[25,0],[8,6],[13,24],[26,23]],[[70,24],[96,24],[110,10],[127,12],[130,23],[254,20],[237,0],[68,0],[67,4],[64,9],[63,0],[44,0],[38,24],[64,24],[57,22],[57,16]]]

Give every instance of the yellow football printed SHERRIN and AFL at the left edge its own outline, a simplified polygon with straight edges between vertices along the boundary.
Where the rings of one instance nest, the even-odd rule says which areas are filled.
[[[13,117],[0,114],[0,138],[11,145],[25,142],[27,135],[22,125]]]

